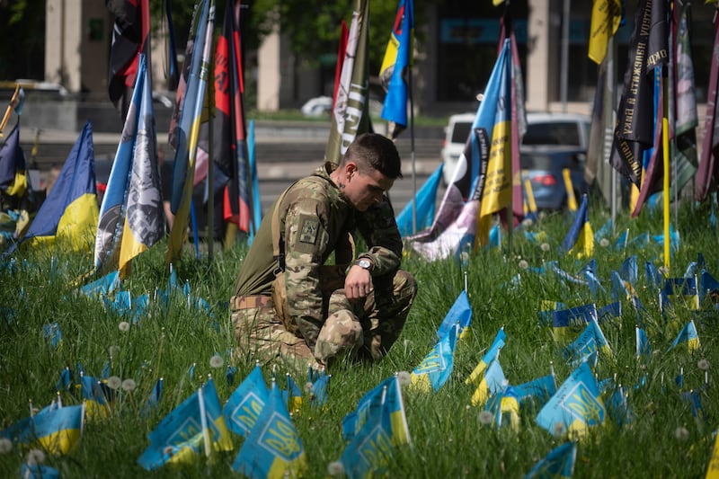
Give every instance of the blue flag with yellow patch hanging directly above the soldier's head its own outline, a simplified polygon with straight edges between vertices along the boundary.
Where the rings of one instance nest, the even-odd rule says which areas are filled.
[[[394,125],[394,128],[390,127],[393,138],[407,128],[408,68],[412,65],[413,58],[413,11],[413,0],[400,0],[385,58],[379,68],[379,81],[387,92],[382,118]]]

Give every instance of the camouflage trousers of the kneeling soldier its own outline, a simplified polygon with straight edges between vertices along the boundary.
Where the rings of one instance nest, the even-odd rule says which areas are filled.
[[[290,333],[272,302],[232,311],[238,352],[261,361],[284,359],[289,367],[326,365],[332,359],[382,359],[404,327],[417,293],[417,283],[407,271],[373,279],[374,290],[364,300],[350,301],[344,289],[329,299],[328,315],[314,350]]]

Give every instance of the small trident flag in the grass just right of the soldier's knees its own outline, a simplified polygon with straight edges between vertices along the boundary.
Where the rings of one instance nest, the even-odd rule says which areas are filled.
[[[414,368],[411,376],[411,384],[418,390],[428,393],[437,392],[444,386],[452,375],[455,363],[455,347],[457,346],[457,332],[459,324],[456,323],[447,333],[435,344],[434,348],[422,362]]]

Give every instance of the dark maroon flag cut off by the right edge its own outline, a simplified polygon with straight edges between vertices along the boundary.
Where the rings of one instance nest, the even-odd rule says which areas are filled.
[[[714,45],[719,45],[719,15],[714,19]],[[697,170],[697,185],[694,191],[696,200],[704,200],[711,191],[719,186],[719,55],[712,55],[712,67],[709,70],[709,84],[706,85],[706,118],[704,120],[704,140],[702,154]]]

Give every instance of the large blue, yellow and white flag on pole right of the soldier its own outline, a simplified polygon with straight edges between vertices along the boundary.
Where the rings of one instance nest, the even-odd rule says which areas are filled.
[[[453,179],[439,204],[434,223],[429,230],[409,237],[413,249],[428,259],[447,257],[466,246],[472,249],[480,204],[487,216],[509,204],[510,175],[504,175],[501,170],[505,164],[505,171],[510,172],[511,168],[510,81],[511,48],[510,40],[506,40],[484,90],[484,100],[477,109],[465,151],[459,155]],[[494,139],[496,145],[493,145]],[[491,158],[494,161],[490,170]],[[489,173],[492,175],[491,183],[485,178]],[[482,226],[486,226],[487,219]],[[486,244],[489,229],[481,230],[480,234],[484,240],[480,243]]]

